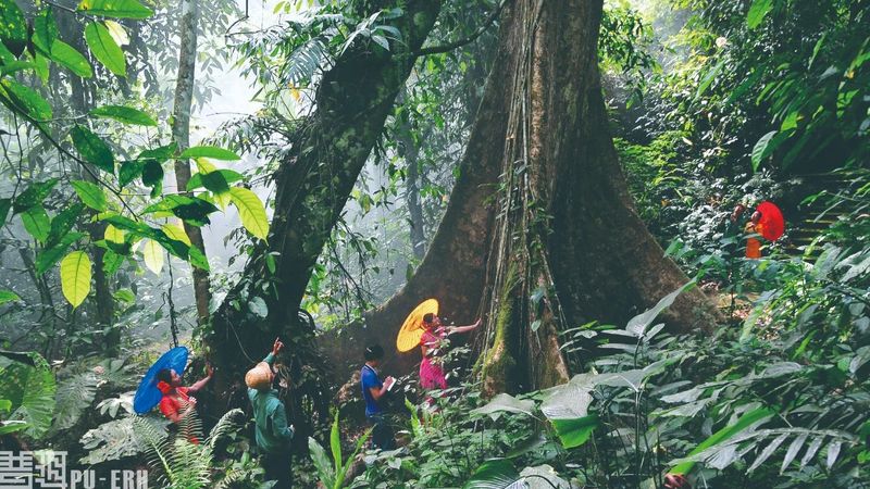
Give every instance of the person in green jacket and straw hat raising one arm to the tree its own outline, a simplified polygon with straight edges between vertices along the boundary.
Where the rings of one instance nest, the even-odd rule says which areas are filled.
[[[248,399],[253,405],[257,447],[264,454],[262,463],[265,479],[277,480],[274,489],[290,489],[290,440],[294,427],[287,425],[284,403],[278,399],[278,391],[272,388],[275,381],[272,365],[282,348],[284,343],[276,338],[272,352],[245,375],[245,384],[248,385]]]

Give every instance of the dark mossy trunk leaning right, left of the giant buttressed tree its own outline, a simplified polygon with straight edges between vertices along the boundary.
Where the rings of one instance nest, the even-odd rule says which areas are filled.
[[[301,425],[296,437],[300,440],[306,439],[304,425],[313,421],[310,403],[325,402],[315,408],[328,409],[328,393],[318,376],[323,359],[312,344],[313,325],[298,319],[299,304],[313,265],[410,74],[413,52],[433,27],[440,1],[364,5],[372,12],[400,5],[401,15],[389,23],[403,38],[390,42],[386,51],[360,37],[324,73],[315,110],[296,133],[275,175],[275,215],[269,246],[258,250],[248,263],[241,281],[213,314],[212,330],[204,337],[210,358],[220,365],[215,385],[223,397],[229,398],[229,404],[245,402],[239,396],[244,392],[244,372],[265,355],[276,336],[284,339],[288,353],[283,360],[288,361],[295,390],[289,408],[297,427]],[[372,12],[361,13],[368,16]],[[266,252],[275,258],[274,274],[270,273]],[[247,303],[253,297],[264,299],[266,321],[249,311]]]

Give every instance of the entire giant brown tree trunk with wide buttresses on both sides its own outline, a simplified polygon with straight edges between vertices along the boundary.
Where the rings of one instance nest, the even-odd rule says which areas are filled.
[[[438,233],[368,327],[339,335],[343,352],[391,344],[413,305],[435,297],[459,322],[488,312],[478,364],[488,391],[546,387],[568,376],[558,330],[621,324],[688,280],[627,193],[597,67],[600,16],[600,0],[518,0],[505,11],[499,59]],[[697,290],[664,315],[678,331],[714,318]],[[419,353],[389,360],[390,373],[408,372]]]

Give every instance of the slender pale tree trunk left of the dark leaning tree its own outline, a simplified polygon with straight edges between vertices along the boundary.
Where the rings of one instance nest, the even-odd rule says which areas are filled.
[[[190,146],[190,108],[194,103],[194,83],[197,68],[197,24],[199,22],[198,0],[182,0],[182,21],[178,42],[178,75],[175,80],[175,104],[172,109],[172,138],[178,145],[178,150],[184,151]],[[190,162],[187,160],[175,161],[175,184],[178,192],[187,189],[190,180]],[[184,223],[184,230],[202,254],[206,254],[206,242],[202,240],[202,229]],[[209,302],[211,290],[209,272],[191,267],[194,276],[194,297],[197,304],[197,321],[203,324],[209,319]]]

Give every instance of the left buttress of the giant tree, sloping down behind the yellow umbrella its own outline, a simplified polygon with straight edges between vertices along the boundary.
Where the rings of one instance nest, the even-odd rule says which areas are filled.
[[[385,369],[397,374],[411,372],[420,362],[419,352],[398,353],[393,346],[405,317],[424,299],[437,298],[440,314],[461,324],[473,321],[482,311],[494,217],[492,197],[498,185],[505,151],[504,138],[499,136],[507,131],[510,80],[518,63],[514,48],[518,39],[511,35],[511,5],[507,5],[501,14],[501,42],[459,164],[459,178],[423,262],[387,303],[364,314],[362,324],[348,325],[320,337],[320,344],[330,355],[338,378],[347,378],[358,366],[359,355],[347,352],[361,351],[371,343],[384,347]]]

